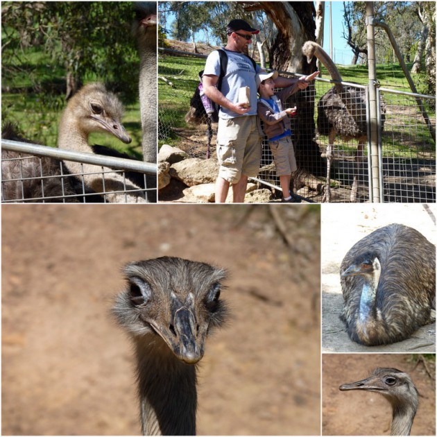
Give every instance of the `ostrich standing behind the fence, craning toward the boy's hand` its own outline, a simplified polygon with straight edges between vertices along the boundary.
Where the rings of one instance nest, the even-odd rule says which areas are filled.
[[[341,82],[339,70],[336,68],[329,55],[314,41],[307,41],[302,46],[303,55],[307,56],[307,61],[311,62],[316,56],[325,66],[332,78]],[[386,112],[385,103],[381,103],[382,123],[384,126],[384,114]],[[354,180],[350,201],[355,202],[358,194],[358,170],[363,161],[363,148],[367,142],[367,120],[366,120],[366,95],[363,89],[336,83],[318,101],[317,128],[320,135],[328,136],[326,149],[327,158],[327,185],[324,200],[329,202],[331,199],[330,172],[334,158],[334,140],[336,135],[340,135],[344,141],[357,139],[357,153],[355,154]]]

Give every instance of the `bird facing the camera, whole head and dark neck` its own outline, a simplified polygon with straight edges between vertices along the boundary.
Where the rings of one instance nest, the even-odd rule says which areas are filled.
[[[205,339],[223,325],[225,271],[160,257],[124,268],[126,289],[112,309],[132,337],[144,435],[196,434],[196,366]]]

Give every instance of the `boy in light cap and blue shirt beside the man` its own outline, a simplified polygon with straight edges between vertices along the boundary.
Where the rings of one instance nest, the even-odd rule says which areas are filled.
[[[313,80],[317,75],[318,71],[307,76],[306,80]],[[300,88],[295,83],[275,94],[275,78],[277,78],[277,71],[257,74],[257,87],[260,96],[258,115],[264,121],[264,133],[268,137],[268,144],[275,160],[276,174],[280,178],[281,202],[300,203],[302,200],[293,191],[290,191],[291,173],[296,171],[298,166],[291,142],[291,125],[288,116],[295,115],[296,108],[282,109],[286,98],[298,92]]]

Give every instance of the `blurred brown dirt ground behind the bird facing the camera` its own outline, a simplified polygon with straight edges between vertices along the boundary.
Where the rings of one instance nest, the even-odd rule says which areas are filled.
[[[275,206],[270,206],[274,208]],[[130,343],[110,316],[121,266],[227,268],[228,326],[199,366],[198,434],[320,433],[320,209],[2,205],[2,434],[139,434]]]

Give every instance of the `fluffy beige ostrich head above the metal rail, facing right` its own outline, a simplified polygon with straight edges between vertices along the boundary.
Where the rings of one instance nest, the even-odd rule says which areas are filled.
[[[122,115],[123,105],[115,94],[101,83],[89,83],[70,99],[62,119],[73,123],[86,136],[91,132],[108,132],[129,144],[131,139],[121,124]]]

